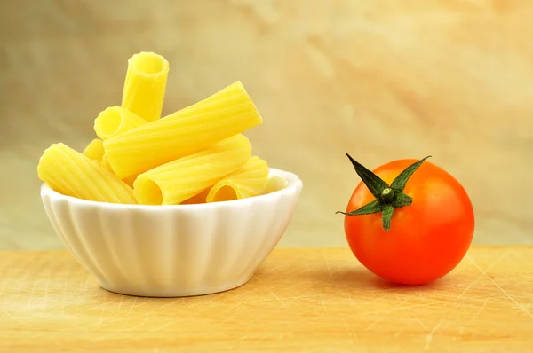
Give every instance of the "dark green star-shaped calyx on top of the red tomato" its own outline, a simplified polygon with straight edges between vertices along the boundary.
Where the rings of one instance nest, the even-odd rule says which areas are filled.
[[[391,219],[394,215],[394,209],[410,206],[413,202],[413,199],[409,195],[403,193],[405,185],[413,173],[417,171],[418,167],[431,156],[416,161],[406,169],[403,169],[402,173],[396,176],[390,185],[386,184],[383,179],[365,168],[361,163],[355,161],[348,153],[346,153],[346,156],[352,162],[357,175],[361,177],[362,182],[369,188],[370,193],[376,200],[370,201],[362,206],[362,208],[355,209],[354,211],[347,213],[337,211],[336,213],[346,216],[361,216],[381,212],[383,229],[384,231],[389,231],[391,229]]]

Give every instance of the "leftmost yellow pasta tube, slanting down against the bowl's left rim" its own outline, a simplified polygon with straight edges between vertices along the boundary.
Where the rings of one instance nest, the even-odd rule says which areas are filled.
[[[100,202],[136,203],[130,186],[67,145],[54,144],[46,149],[37,174],[54,191],[64,195]]]

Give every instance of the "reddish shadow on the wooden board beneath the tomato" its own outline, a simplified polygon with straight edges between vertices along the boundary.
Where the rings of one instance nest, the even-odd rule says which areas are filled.
[[[426,285],[400,285],[387,281],[374,275],[372,272],[362,267],[354,269],[342,269],[338,271],[314,271],[308,272],[309,279],[318,282],[321,286],[329,286],[338,289],[374,289],[374,290],[394,290],[398,292],[417,292],[420,290],[430,290],[441,286],[442,279],[436,280]]]

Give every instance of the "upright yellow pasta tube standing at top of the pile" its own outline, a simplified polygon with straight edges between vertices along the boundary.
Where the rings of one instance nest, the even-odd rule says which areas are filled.
[[[128,59],[122,106],[147,122],[161,117],[169,62],[154,52],[142,51]]]

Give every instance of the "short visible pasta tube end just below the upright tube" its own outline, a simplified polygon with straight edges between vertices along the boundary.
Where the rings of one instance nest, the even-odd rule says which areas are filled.
[[[109,106],[94,120],[94,131],[102,140],[135,129],[147,121],[121,106]],[[102,143],[103,149],[103,143]]]

